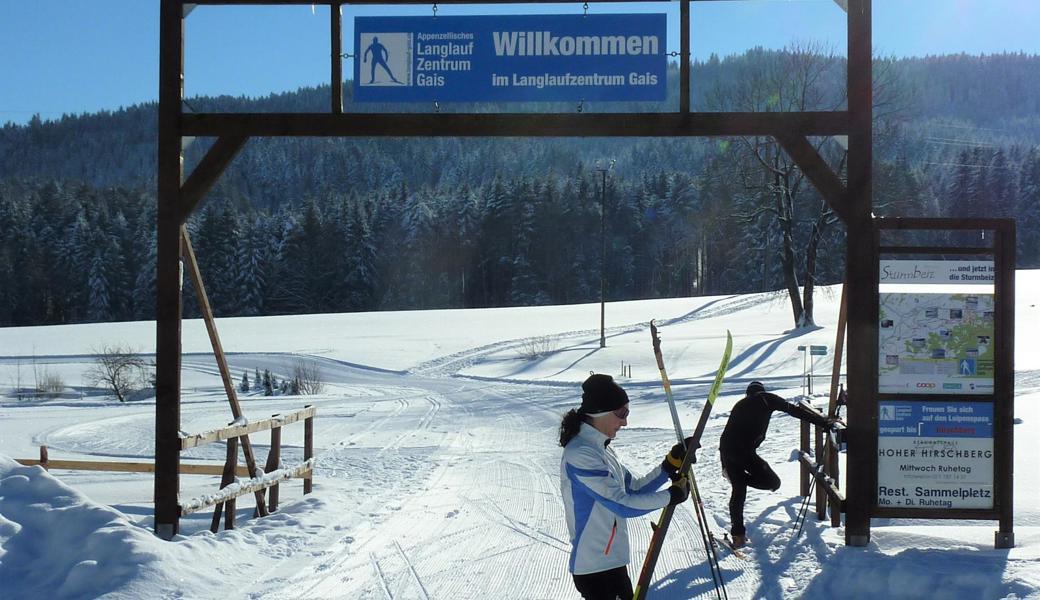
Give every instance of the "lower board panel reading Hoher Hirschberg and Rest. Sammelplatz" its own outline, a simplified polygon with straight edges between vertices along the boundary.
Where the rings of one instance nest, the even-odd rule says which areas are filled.
[[[993,507],[993,405],[878,405],[878,505]]]

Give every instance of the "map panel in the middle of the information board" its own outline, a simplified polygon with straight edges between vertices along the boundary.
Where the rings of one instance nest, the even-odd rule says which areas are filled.
[[[993,393],[993,295],[881,293],[878,391]]]

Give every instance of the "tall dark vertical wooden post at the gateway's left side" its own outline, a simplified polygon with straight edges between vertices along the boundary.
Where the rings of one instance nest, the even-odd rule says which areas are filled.
[[[177,534],[181,439],[181,100],[184,97],[184,10],[159,7],[159,140],[156,164],[155,259],[155,532]]]

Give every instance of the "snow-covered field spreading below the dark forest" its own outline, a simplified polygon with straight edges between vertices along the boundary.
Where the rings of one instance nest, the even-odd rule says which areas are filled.
[[[1017,279],[1015,533],[994,550],[995,522],[875,520],[865,548],[810,517],[792,523],[801,498],[792,450],[798,423],[778,415],[761,454],[783,479],[778,492],[752,490],[748,558],[723,554],[730,598],[1040,597],[1040,271]],[[0,597],[3,598],[382,598],[570,599],[568,534],[560,499],[560,417],[577,405],[590,371],[614,374],[629,391],[629,426],[615,444],[632,470],[655,465],[674,442],[650,345],[657,319],[666,366],[684,426],[694,426],[714,374],[726,330],[733,360],[708,422],[696,474],[718,531],[728,526],[729,486],[718,440],[747,383],[787,397],[802,393],[799,345],[817,357],[815,398],[826,401],[837,290],[820,291],[821,329],[790,332],[782,296],[756,294],[616,303],[607,306],[607,347],[599,348],[598,305],[425,311],[218,321],[237,377],[280,376],[301,357],[320,365],[319,396],[251,394],[251,419],[313,403],[318,466],[314,493],[283,484],[277,514],[252,519],[239,500],[238,528],[212,534],[206,512],[181,521],[182,534],[152,534],[147,474],[22,467],[41,444],[51,459],[148,460],[154,401],[119,403],[89,390],[82,373],[92,348],[154,347],[154,324],[111,323],[0,329]],[[528,349],[550,350],[528,358]],[[182,428],[231,420],[202,324],[184,324]],[[631,376],[619,376],[622,364]],[[33,369],[75,390],[19,400]],[[283,434],[283,462],[302,454],[302,425]],[[260,460],[267,437],[253,436]],[[223,461],[223,445],[185,460]],[[218,477],[184,475],[182,500],[212,493]],[[655,515],[629,525],[635,576]],[[688,504],[676,512],[650,597],[714,597]]]

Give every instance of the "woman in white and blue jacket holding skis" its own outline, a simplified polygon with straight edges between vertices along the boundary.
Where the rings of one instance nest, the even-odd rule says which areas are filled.
[[[560,425],[569,571],[586,600],[630,600],[626,519],[686,499],[688,484],[678,477],[684,450],[676,444],[660,466],[634,478],[608,447],[628,424],[628,394],[603,374],[590,375],[581,390],[581,407],[569,411]],[[672,486],[660,490],[670,478]]]

